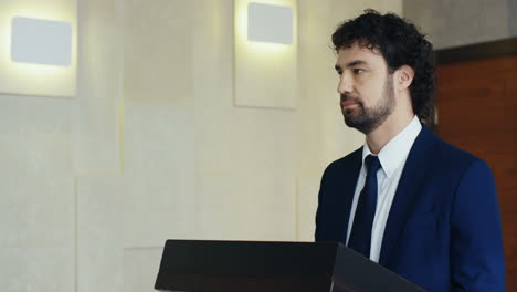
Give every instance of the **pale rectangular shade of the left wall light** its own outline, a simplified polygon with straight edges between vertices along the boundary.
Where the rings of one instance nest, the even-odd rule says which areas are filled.
[[[72,63],[72,24],[17,17],[11,25],[11,61],[56,66]]]

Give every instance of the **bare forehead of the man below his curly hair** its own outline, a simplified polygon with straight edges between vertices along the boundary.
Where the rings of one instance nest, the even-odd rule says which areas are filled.
[[[371,66],[387,66],[384,58],[378,50],[371,50],[358,45],[357,43],[354,43],[350,48],[342,48],[338,51],[336,65],[345,67],[347,64],[357,61],[362,61]]]

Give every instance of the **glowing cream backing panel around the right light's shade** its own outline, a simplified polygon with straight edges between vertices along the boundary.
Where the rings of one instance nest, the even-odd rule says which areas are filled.
[[[296,0],[253,1],[293,9],[293,43],[250,41],[247,6],[235,0],[234,98],[238,106],[296,108],[297,106],[297,8]]]

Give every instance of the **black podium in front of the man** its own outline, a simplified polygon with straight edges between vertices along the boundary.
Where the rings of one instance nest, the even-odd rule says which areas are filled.
[[[168,240],[155,289],[184,292],[424,292],[337,242]]]

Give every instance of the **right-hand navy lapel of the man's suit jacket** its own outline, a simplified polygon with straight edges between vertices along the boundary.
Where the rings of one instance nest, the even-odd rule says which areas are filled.
[[[419,189],[425,181],[426,166],[431,165],[432,159],[430,149],[435,140],[436,137],[423,125],[408,155],[386,223],[379,258],[379,263],[382,265],[388,265],[391,251],[419,195]]]

